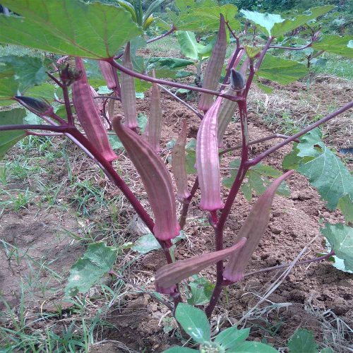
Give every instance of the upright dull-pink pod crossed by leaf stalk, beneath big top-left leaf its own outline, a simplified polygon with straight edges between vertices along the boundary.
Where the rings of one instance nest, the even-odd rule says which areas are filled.
[[[129,70],[133,70],[133,64],[130,54],[130,42],[126,44],[122,64]],[[136,93],[135,79],[127,73],[121,72],[121,104],[124,110],[125,125],[128,128],[137,128],[136,117]]]

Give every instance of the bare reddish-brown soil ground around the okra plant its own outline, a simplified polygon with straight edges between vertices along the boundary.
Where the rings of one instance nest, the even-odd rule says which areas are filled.
[[[249,103],[250,140],[279,131],[282,112],[287,112],[292,119],[305,124],[306,121],[325,116],[352,100],[352,83],[328,76],[313,76],[311,79],[310,86],[304,81],[285,87],[271,84],[275,89],[275,95],[265,95],[256,89],[251,94]],[[330,90],[327,89],[328,85]],[[196,138],[200,124],[198,116],[164,92],[161,96],[164,110],[161,147],[164,148],[169,140],[177,138],[183,119],[187,119],[188,139]],[[148,114],[149,97],[150,92],[146,92],[145,99],[138,100],[138,112]],[[193,104],[193,100],[196,101],[196,98],[191,97],[190,104]],[[121,112],[121,109],[118,107],[116,112]],[[279,119],[276,121],[279,122],[268,128],[264,125],[262,116],[269,113],[277,116]],[[303,116],[306,121],[303,121]],[[352,146],[352,126],[352,112],[338,116],[324,126],[325,142],[335,150]],[[225,137],[226,147],[241,142],[239,131],[239,123],[233,122],[229,125]],[[275,139],[252,145],[250,157],[255,157],[278,142],[279,140]],[[274,152],[263,163],[282,170],[282,160],[290,150],[292,145]],[[170,151],[164,153],[165,160],[169,153]],[[340,157],[343,156],[340,155]],[[232,152],[232,155],[226,155],[222,158],[221,167],[228,167],[229,162],[236,158],[239,158],[237,151]],[[353,157],[352,160],[346,159],[350,170],[353,169],[352,161]],[[119,157],[117,163],[120,169],[131,168],[130,162],[123,157]],[[222,169],[222,177],[228,175],[227,169]],[[133,178],[138,182],[136,174]],[[194,177],[191,176],[190,188],[193,185],[193,179]],[[287,184],[290,188],[290,197],[275,196],[270,224],[246,272],[294,260],[304,246],[320,234],[319,229],[325,222],[344,222],[339,210],[332,212],[325,208],[325,202],[321,201],[317,191],[309,186],[306,177],[295,173],[288,179]],[[143,189],[137,188],[134,191],[144,195]],[[227,191],[228,189],[222,187],[224,199]],[[119,191],[114,192],[119,193]],[[214,249],[213,229],[205,223],[208,217],[206,213],[198,208],[199,197],[198,192],[191,203],[185,227],[187,237],[177,247],[178,259],[189,258]],[[252,204],[239,193],[225,227],[225,246],[232,246]],[[54,211],[49,213],[41,211],[37,214],[37,211],[35,203],[29,210],[17,213],[13,210],[5,211],[0,215],[0,239],[8,244],[17,244],[23,253],[37,259],[38,267],[42,272],[36,280],[43,283],[43,286],[50,287],[52,282],[46,282],[49,271],[47,268],[64,278],[68,268],[80,256],[83,247],[72,241],[72,237],[65,237],[65,232],[62,232],[62,229],[78,232],[79,227],[75,222],[62,217],[62,213],[59,215]],[[9,304],[15,305],[18,304],[21,295],[20,277],[28,277],[28,261],[22,261],[25,256],[20,264],[16,256],[11,256],[8,260],[5,246],[1,247],[0,251],[1,293]],[[62,251],[65,256],[54,260]],[[325,241],[319,236],[309,246],[301,260],[314,258],[317,253],[325,253],[325,251]],[[153,275],[164,264],[162,253],[152,251],[131,265],[128,278],[140,285],[148,278],[146,289],[154,290]],[[214,267],[203,270],[201,275],[215,282]],[[347,349],[348,345],[353,344],[353,332],[350,329],[353,328],[353,275],[337,270],[329,261],[297,266],[268,299],[257,309],[249,312],[275,281],[277,278],[275,275],[277,274],[274,272],[254,275],[230,286],[227,296],[225,293],[222,294],[215,309],[213,328],[215,330],[226,328],[240,320],[240,325],[251,327],[252,340],[261,341],[265,338],[277,348],[287,347],[287,340],[294,330],[306,328],[313,330],[316,342],[324,342],[329,346],[335,342],[334,346],[330,346],[335,347],[335,352],[351,352]],[[50,276],[50,281],[55,279],[56,276]],[[57,278],[57,281],[61,282],[61,279]],[[65,282],[63,282],[63,288],[64,285]],[[143,349],[145,349],[143,352],[162,352],[170,345],[179,344],[180,341],[175,336],[174,330],[164,333],[162,318],[170,317],[167,309],[153,301],[147,294],[133,293],[135,290],[131,287],[119,304],[112,306],[112,309],[106,313],[105,320],[116,328],[106,329],[100,333],[101,340],[93,347],[92,352],[141,352]],[[47,299],[42,292],[39,292],[37,298],[25,300],[32,303],[30,308],[33,311],[38,311],[41,307],[42,311],[50,312],[50,306],[60,301],[63,295],[63,291],[56,291]],[[3,304],[0,304],[2,311],[4,305],[1,305]]]

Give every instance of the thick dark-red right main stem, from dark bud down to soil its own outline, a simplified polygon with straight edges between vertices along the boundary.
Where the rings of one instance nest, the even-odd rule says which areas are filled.
[[[239,104],[239,115],[241,121],[241,135],[242,135],[242,143],[241,143],[241,162],[239,167],[239,172],[237,173],[237,177],[234,180],[232,188],[229,191],[227,201],[225,202],[225,207],[222,210],[222,214],[220,215],[220,219],[215,225],[215,250],[219,251],[223,249],[223,229],[225,227],[225,222],[230,213],[234,200],[238,194],[241,183],[244,180],[245,174],[249,167],[247,167],[246,162],[248,162],[248,149],[249,149],[249,136],[248,136],[248,121],[247,121],[247,111],[246,111],[246,102],[241,101]],[[210,304],[205,309],[206,316],[210,318],[217,304],[218,298],[222,292],[222,284],[223,284],[223,261],[219,261],[217,263],[217,280],[215,289],[213,290],[212,297],[210,299]]]

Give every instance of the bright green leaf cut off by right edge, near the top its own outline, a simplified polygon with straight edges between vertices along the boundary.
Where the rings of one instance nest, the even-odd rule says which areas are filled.
[[[313,42],[311,47],[315,50],[325,50],[325,52],[353,58],[352,35],[323,35],[320,40]]]

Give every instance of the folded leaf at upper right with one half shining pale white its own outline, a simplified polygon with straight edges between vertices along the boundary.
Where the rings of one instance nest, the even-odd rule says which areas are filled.
[[[333,10],[335,6],[320,6],[310,8],[301,15],[293,19],[285,19],[280,15],[272,13],[260,13],[254,11],[241,10],[244,17],[251,21],[256,27],[263,32],[267,37],[280,37],[294,28],[298,28],[304,23],[308,23],[314,18]]]

